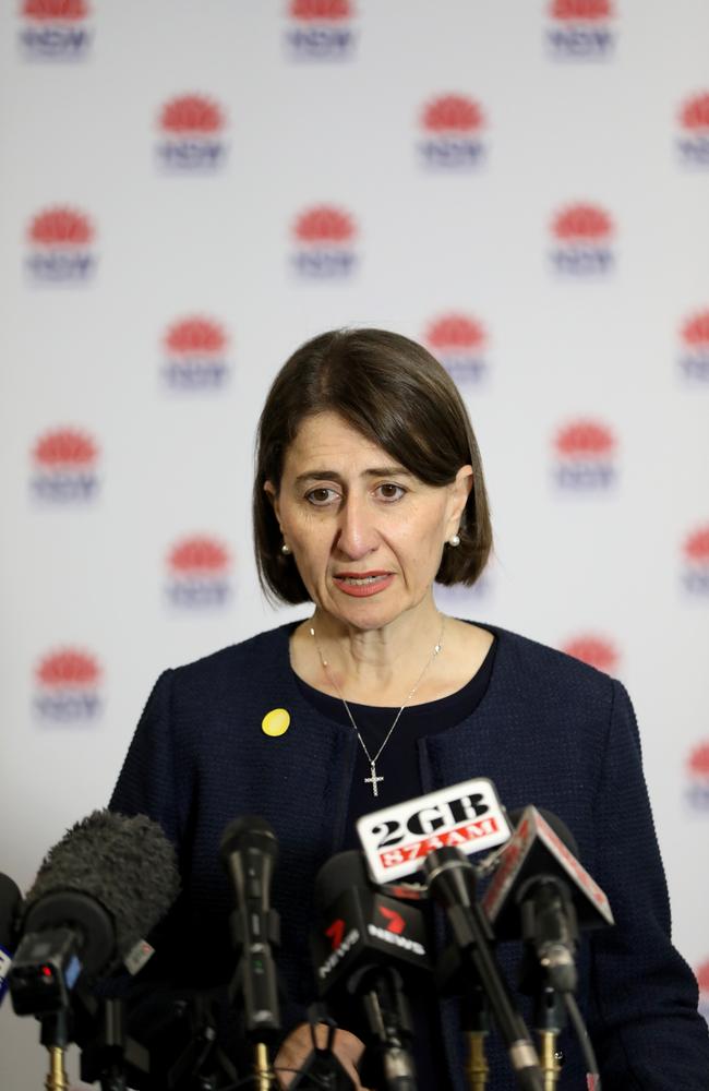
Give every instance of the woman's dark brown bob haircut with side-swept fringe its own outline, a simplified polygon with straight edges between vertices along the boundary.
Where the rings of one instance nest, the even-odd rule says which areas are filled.
[[[278,491],[284,459],[303,420],[336,412],[428,484],[445,485],[472,466],[460,544],[446,547],[441,584],[474,584],[492,548],[482,463],[458,389],[434,357],[386,329],[334,329],[301,345],[268,392],[256,435],[253,525],[261,585],[269,598],[308,602],[264,483]]]

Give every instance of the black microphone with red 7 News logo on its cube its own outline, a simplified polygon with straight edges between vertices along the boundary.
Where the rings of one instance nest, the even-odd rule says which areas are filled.
[[[362,1081],[416,1091],[404,983],[407,974],[430,970],[421,912],[373,889],[358,850],[338,853],[320,870],[315,908],[317,987],[338,1022],[366,1043]]]

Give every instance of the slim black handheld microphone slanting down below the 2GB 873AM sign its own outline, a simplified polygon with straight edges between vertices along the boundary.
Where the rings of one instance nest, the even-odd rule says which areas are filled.
[[[476,900],[476,873],[459,849],[431,852],[423,862],[429,890],[448,918],[461,956],[470,960],[490,1002],[519,1087],[543,1091],[539,1058],[525,1022],[515,1009],[507,983],[492,951],[494,937]]]

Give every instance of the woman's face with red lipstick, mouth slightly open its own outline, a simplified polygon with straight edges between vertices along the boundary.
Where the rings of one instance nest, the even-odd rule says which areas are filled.
[[[426,600],[444,543],[458,529],[470,466],[425,484],[337,413],[309,417],[271,494],[284,540],[313,602],[362,630]]]

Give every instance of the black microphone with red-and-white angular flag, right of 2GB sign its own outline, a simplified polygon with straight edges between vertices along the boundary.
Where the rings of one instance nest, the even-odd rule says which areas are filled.
[[[613,924],[608,898],[577,859],[574,837],[551,812],[530,806],[503,849],[482,898],[497,939],[525,940],[529,961],[520,987],[533,992],[534,970],[560,993],[576,990],[578,930]]]

